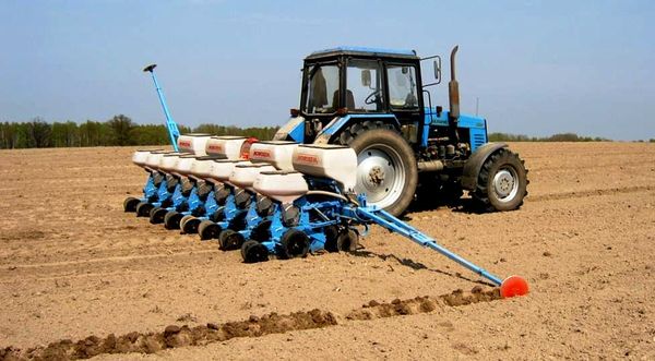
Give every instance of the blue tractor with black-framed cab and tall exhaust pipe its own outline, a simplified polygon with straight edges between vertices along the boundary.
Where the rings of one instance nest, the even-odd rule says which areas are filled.
[[[507,144],[488,143],[484,118],[460,113],[454,47],[450,110],[432,107],[441,58],[414,50],[338,47],[305,59],[299,109],[277,141],[341,144],[357,153],[368,204],[401,215],[413,201],[448,204],[467,190],[480,210],[512,210],[527,194],[527,170]],[[422,84],[421,62],[434,81]],[[430,75],[431,77],[431,75]]]

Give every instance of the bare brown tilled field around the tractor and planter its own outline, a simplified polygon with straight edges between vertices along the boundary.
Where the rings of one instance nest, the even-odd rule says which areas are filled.
[[[97,359],[655,359],[655,144],[512,148],[529,168],[520,210],[408,215],[532,287],[471,304],[440,296],[479,286],[475,275],[377,227],[353,254],[243,264],[122,213],[145,181],[133,148],[1,151],[0,359],[147,333],[171,348]],[[396,301],[362,308],[371,300]],[[192,328],[163,334],[169,325]],[[75,348],[103,352],[98,342]]]

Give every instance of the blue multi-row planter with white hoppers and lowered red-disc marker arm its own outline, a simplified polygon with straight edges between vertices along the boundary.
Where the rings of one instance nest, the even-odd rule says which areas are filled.
[[[522,278],[502,280],[384,209],[367,205],[365,195],[353,192],[357,156],[352,148],[255,142],[249,144],[249,160],[240,158],[241,152],[215,151],[242,147],[245,141],[187,134],[177,142],[182,153],[135,152],[133,163],[148,177],[143,197],[127,198],[126,210],[150,216],[152,222],[164,220],[169,229],[198,232],[202,240],[217,239],[222,250],[240,249],[247,263],[303,257],[319,250],[354,251],[359,236],[379,225],[501,286],[504,297],[527,291]]]

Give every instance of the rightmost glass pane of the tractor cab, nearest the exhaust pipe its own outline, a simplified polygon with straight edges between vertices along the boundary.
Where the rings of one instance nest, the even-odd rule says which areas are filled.
[[[392,109],[417,109],[418,93],[416,68],[410,65],[388,65],[389,105]]]

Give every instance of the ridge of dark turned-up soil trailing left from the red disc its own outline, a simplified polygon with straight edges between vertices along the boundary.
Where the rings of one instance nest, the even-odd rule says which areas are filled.
[[[498,288],[485,291],[481,287],[476,286],[471,292],[464,292],[460,289],[439,297],[425,296],[407,300],[395,299],[389,303],[380,303],[373,300],[359,309],[350,311],[345,317],[318,309],[284,315],[272,312],[261,317],[251,315],[246,321],[228,322],[222,325],[213,323],[195,327],[169,325],[163,332],[132,332],[121,336],[109,334],[104,338],[92,335],[78,341],[62,339],[50,342],[48,346],[37,346],[29,349],[19,349],[10,346],[0,349],[0,360],[78,360],[106,353],[155,353],[164,349],[204,346],[236,337],[261,337],[293,330],[324,328],[348,322],[429,313],[438,308],[462,306],[499,299],[500,290]]]

